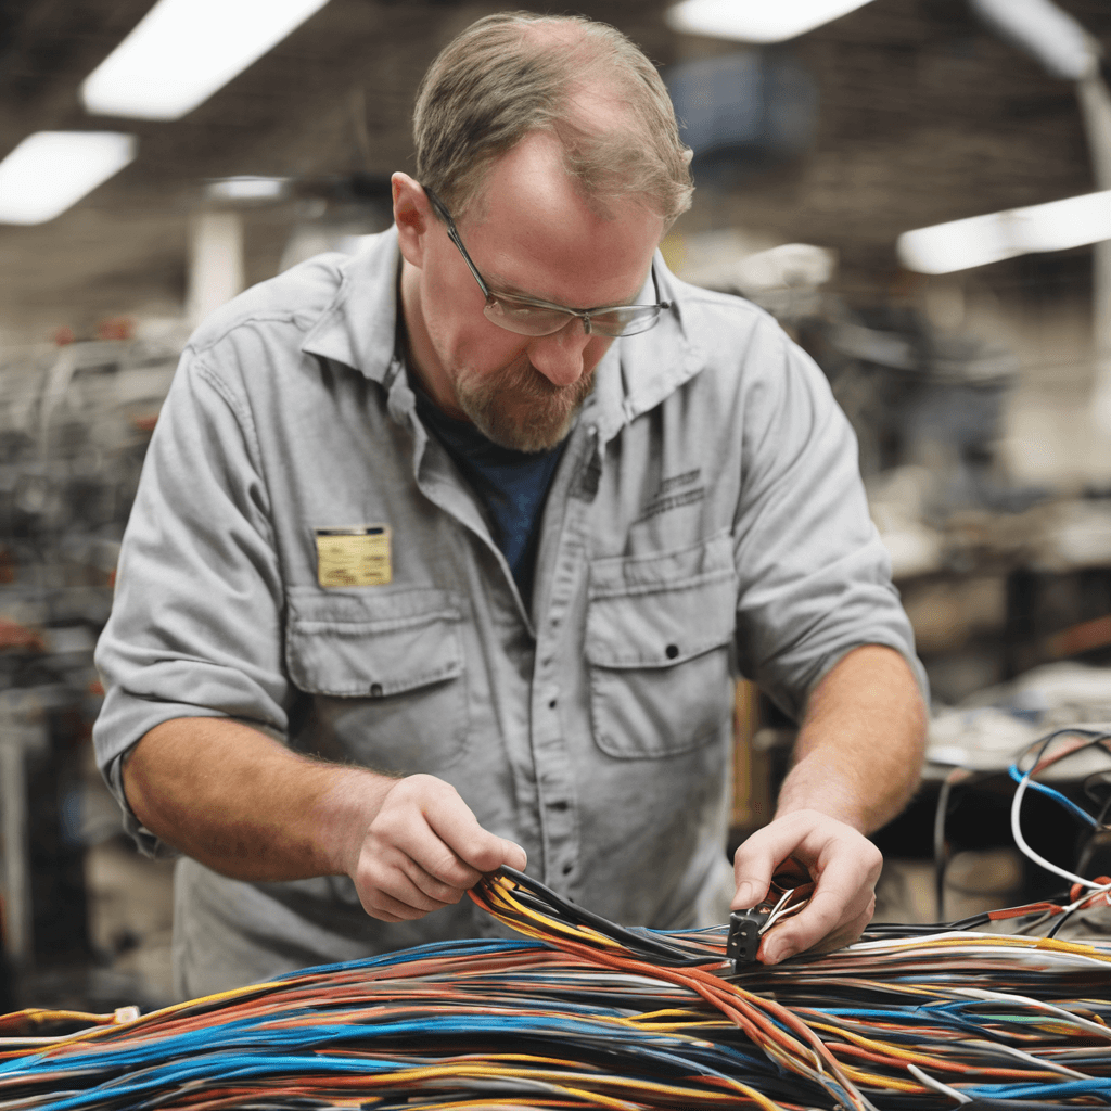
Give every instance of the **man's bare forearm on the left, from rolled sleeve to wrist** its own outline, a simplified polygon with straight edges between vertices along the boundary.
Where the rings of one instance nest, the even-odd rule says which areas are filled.
[[[139,820],[224,875],[350,873],[396,779],[310,760],[226,718],[157,725],[123,767]]]

